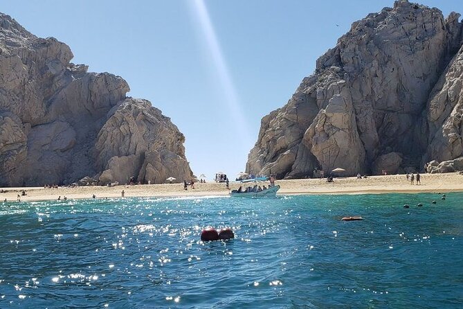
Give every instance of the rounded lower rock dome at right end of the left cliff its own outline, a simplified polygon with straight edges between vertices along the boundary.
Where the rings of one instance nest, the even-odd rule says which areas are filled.
[[[167,177],[190,179],[183,143],[185,136],[147,100],[127,98],[111,110],[96,141],[100,176],[111,182],[160,183]]]

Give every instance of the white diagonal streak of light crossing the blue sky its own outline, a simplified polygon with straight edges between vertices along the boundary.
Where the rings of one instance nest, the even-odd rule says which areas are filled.
[[[228,112],[230,112],[230,118],[236,125],[235,130],[239,130],[240,139],[243,141],[244,146],[249,147],[253,145],[253,143],[251,142],[248,124],[244,118],[242,105],[237,97],[235,86],[230,78],[230,73],[221,51],[219,40],[215,35],[215,30],[210,21],[208,9],[203,0],[194,0],[193,3],[194,17],[199,21],[200,30],[206,39],[208,51],[212,56],[212,64],[215,70],[217,70],[217,77],[224,90],[224,101],[228,107]]]

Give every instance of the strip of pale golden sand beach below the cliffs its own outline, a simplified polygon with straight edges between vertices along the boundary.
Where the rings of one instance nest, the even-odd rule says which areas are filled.
[[[406,175],[385,175],[371,176],[366,179],[356,177],[335,178],[334,182],[328,183],[325,179],[294,179],[278,180],[281,186],[278,195],[291,194],[365,194],[365,193],[424,193],[424,192],[455,192],[463,191],[463,175],[458,173],[446,174],[423,174],[421,184],[412,185],[407,181]],[[249,186],[239,182],[230,182],[230,189],[237,189],[239,186]],[[135,186],[81,186],[75,188],[1,188],[0,201],[5,199],[8,202],[17,201],[17,195],[26,191],[26,196],[21,196],[21,202],[38,200],[57,200],[66,196],[68,199],[84,199],[105,197],[121,197],[122,190],[125,197],[185,197],[185,196],[206,196],[206,195],[228,195],[229,190],[226,184],[207,182],[205,184],[195,183],[194,188],[188,186],[183,190],[183,184],[151,184]]]

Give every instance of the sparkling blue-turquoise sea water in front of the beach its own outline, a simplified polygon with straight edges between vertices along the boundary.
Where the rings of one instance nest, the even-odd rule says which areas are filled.
[[[462,201],[429,193],[0,204],[0,308],[461,308]],[[203,243],[208,226],[232,227],[236,238]]]

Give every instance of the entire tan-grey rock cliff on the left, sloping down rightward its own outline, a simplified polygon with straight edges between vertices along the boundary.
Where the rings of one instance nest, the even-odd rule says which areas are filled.
[[[190,179],[185,138],[127,82],[0,13],[0,186]]]

